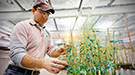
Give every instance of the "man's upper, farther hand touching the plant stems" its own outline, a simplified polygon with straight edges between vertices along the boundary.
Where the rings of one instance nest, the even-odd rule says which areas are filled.
[[[67,53],[67,50],[71,47],[71,45],[61,45],[56,50],[52,52],[52,57],[58,57],[60,55],[64,55]]]

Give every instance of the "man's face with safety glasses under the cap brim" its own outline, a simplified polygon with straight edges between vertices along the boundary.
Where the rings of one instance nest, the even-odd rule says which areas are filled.
[[[42,9],[38,7],[34,13],[34,20],[42,27],[43,24],[48,20],[49,15],[49,11],[42,11]]]

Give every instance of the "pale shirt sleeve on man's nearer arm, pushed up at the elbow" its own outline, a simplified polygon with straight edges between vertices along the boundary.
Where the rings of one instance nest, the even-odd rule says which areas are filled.
[[[10,37],[10,58],[17,66],[22,66],[21,61],[27,54],[27,29],[23,23],[18,23],[12,30]]]

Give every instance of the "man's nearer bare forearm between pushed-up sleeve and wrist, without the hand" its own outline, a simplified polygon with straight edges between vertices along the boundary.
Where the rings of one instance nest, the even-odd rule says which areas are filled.
[[[22,59],[22,66],[33,69],[41,69],[43,67],[44,60],[35,58],[29,54],[26,54]]]

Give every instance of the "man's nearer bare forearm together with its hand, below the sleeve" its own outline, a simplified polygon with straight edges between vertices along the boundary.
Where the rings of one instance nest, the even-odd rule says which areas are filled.
[[[47,71],[57,74],[65,68],[66,62],[58,59],[39,59],[26,54],[21,62],[22,66],[32,69],[46,69]]]

